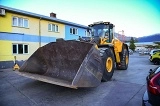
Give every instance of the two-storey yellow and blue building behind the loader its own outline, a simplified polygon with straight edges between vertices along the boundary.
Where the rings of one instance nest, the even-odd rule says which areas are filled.
[[[0,69],[21,65],[37,48],[85,36],[87,26],[0,5]]]

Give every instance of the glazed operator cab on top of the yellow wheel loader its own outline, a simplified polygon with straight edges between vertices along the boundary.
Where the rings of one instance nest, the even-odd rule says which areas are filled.
[[[114,25],[110,22],[95,22],[88,25],[93,38],[106,38],[108,43],[112,42]]]

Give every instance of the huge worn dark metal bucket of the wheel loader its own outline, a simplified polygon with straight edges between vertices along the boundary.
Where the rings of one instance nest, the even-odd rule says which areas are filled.
[[[18,73],[70,88],[95,87],[100,84],[103,75],[101,62],[94,44],[58,41],[35,51]]]

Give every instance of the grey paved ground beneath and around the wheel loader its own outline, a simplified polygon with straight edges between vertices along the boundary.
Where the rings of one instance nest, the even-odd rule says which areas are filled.
[[[145,78],[152,65],[148,56],[130,56],[126,71],[115,70],[109,82],[78,90],[60,87],[0,70],[0,106],[141,106]]]

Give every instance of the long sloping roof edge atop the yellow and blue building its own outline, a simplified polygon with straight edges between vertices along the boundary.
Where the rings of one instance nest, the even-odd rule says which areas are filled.
[[[69,22],[69,21],[65,21],[65,20],[61,20],[61,19],[57,19],[57,18],[53,18],[53,17],[49,17],[49,16],[45,16],[45,15],[40,15],[40,14],[36,14],[36,13],[24,11],[24,10],[19,10],[19,9],[15,9],[15,8],[3,6],[3,5],[0,5],[0,8],[5,9],[5,10],[10,11],[10,12],[13,12],[13,13],[19,13],[19,14],[23,14],[23,15],[27,15],[27,16],[31,16],[31,17],[46,19],[46,20],[50,20],[50,21],[54,21],[54,22],[59,22],[59,23],[62,23],[62,24],[72,25],[72,26],[81,27],[81,28],[87,28],[88,27],[88,26],[85,26],[85,25],[81,25],[81,24],[77,24],[77,23],[73,23],[73,22]]]

